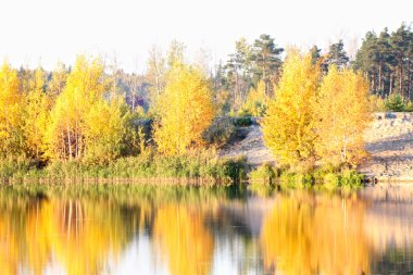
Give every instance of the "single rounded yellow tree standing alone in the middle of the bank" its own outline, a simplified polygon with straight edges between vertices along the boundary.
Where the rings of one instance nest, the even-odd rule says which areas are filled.
[[[185,153],[193,143],[200,143],[202,133],[214,117],[206,78],[197,68],[175,64],[157,109],[154,141],[158,150],[165,154]]]

